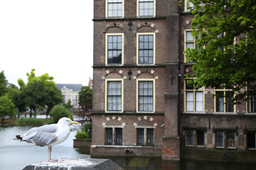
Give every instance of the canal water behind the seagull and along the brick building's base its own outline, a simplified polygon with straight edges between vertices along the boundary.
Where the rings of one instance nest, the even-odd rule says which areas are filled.
[[[31,126],[0,125],[0,169],[17,170],[23,169],[28,164],[46,161],[48,159],[48,147],[38,147],[27,142],[12,140],[15,135],[23,135]],[[70,132],[68,140],[60,145],[54,146],[52,157],[90,159],[87,149],[74,148],[73,139],[77,129]],[[252,170],[255,164],[238,164],[225,162],[199,162],[182,160],[181,162],[163,161],[155,157],[105,157],[112,159],[124,170]],[[256,159],[256,158],[255,158]]]

